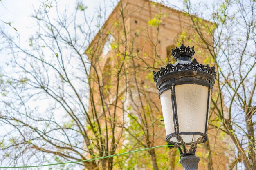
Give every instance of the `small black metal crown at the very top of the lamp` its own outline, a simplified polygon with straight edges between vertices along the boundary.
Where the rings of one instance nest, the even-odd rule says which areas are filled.
[[[189,47],[189,46],[184,46],[183,44],[180,47],[176,47],[176,49],[171,49],[171,54],[175,58],[175,60],[180,57],[180,56],[186,56],[190,57],[192,59],[193,55],[195,54],[194,46]]]

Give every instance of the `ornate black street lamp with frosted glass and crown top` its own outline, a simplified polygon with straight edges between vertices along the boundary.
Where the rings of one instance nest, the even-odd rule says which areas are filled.
[[[195,156],[195,151],[197,144],[207,141],[216,71],[214,66],[199,64],[196,59],[191,61],[194,47],[182,44],[171,51],[177,62],[153,71],[162,105],[166,141],[181,151],[180,163],[184,170],[198,170],[199,157]]]

